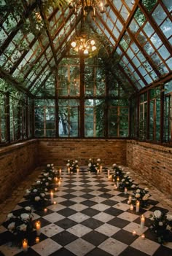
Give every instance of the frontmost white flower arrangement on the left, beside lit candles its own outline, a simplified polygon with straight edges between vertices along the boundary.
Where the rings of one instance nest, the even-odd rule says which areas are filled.
[[[16,212],[10,212],[3,225],[14,235],[13,242],[20,246],[22,239],[29,239],[34,230],[33,214],[30,206],[23,208],[22,212]]]

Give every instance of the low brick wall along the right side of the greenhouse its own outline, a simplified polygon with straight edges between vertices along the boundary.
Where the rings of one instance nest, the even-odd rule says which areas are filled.
[[[172,194],[172,148],[127,141],[127,165],[163,193]]]

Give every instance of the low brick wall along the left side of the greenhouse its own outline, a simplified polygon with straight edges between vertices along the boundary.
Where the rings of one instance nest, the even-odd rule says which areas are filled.
[[[37,144],[31,140],[0,149],[0,201],[38,165]]]

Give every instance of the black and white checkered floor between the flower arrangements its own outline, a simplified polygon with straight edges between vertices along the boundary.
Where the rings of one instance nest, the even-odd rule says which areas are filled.
[[[154,198],[149,209],[136,213],[130,211],[128,194],[114,190],[114,182],[108,179],[106,171],[93,174],[87,168],[80,168],[79,174],[61,174],[62,184],[55,193],[56,204],[49,204],[47,212],[34,212],[34,220],[40,220],[42,233],[40,242],[34,239],[28,252],[7,243],[10,233],[0,227],[0,255],[29,256],[171,256],[172,243],[162,246],[149,230],[149,214],[163,209]],[[49,195],[48,195],[49,196]],[[20,201],[14,211],[28,206]],[[140,217],[146,219],[144,229]],[[136,236],[133,236],[136,230]],[[141,234],[145,238],[141,238]],[[34,234],[35,238],[35,234]]]

